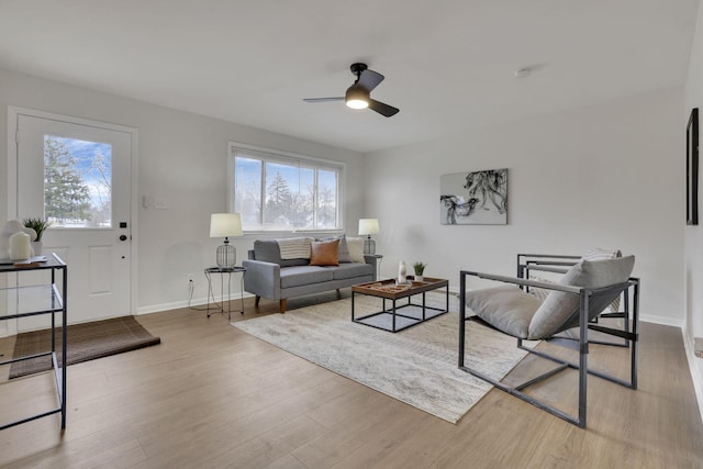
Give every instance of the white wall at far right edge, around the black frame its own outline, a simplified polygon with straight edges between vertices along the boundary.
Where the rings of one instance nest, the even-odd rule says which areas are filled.
[[[699,108],[699,125],[701,125],[703,123],[703,8],[700,7],[689,63],[684,102],[681,119],[688,120],[691,109]],[[699,135],[700,137],[701,135]],[[703,182],[701,176],[699,172],[699,183]],[[703,188],[703,185],[700,187]],[[703,208],[701,200],[701,192],[699,192],[699,208]],[[703,211],[700,212],[700,215],[703,215]],[[703,359],[693,356],[693,337],[703,337],[703,225],[687,226],[684,232],[684,339],[699,397],[699,406],[703,415]]]

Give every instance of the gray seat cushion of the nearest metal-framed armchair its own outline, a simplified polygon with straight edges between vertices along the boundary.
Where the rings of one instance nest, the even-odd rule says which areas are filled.
[[[466,304],[493,327],[526,338],[529,322],[542,302],[515,286],[503,284],[467,291]]]

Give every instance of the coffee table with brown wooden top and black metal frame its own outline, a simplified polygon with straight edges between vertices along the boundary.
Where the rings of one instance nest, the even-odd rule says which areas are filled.
[[[440,288],[446,291],[445,309],[427,306],[425,293]],[[356,317],[354,300],[357,294],[380,298],[383,300],[383,308],[381,311]],[[411,300],[412,297],[417,294],[422,294],[422,304],[413,303]],[[408,299],[408,302],[398,304],[399,300],[404,298]],[[387,301],[391,302],[390,309],[387,308]],[[399,312],[399,310],[402,310],[402,312]],[[394,279],[389,279],[352,287],[352,321],[383,331],[397,333],[446,314],[448,311],[449,281],[445,279],[425,277],[424,281],[413,281],[412,277],[410,277],[408,284],[398,286]]]

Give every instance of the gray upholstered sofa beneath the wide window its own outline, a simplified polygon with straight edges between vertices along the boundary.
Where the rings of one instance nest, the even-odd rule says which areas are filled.
[[[345,248],[343,244],[341,249]],[[261,298],[278,300],[280,312],[284,313],[289,298],[375,281],[377,258],[364,258],[366,263],[349,261],[348,253],[346,257],[341,253],[337,266],[311,266],[310,258],[281,258],[276,239],[257,239],[248,259],[242,261],[246,268],[244,290],[256,295],[257,306]]]

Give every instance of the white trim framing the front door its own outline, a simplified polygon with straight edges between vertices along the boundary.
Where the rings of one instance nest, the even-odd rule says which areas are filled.
[[[124,132],[132,136],[132,161],[130,165],[131,171],[131,188],[130,188],[130,226],[132,233],[132,241],[130,243],[130,313],[136,314],[138,308],[138,163],[140,163],[140,145],[138,145],[138,129],[129,127],[125,125],[110,124],[100,121],[91,121],[88,119],[72,118],[69,115],[56,114],[53,112],[36,111],[33,109],[19,108],[14,105],[8,107],[8,220],[14,220],[18,216],[18,123],[20,115],[29,115],[32,118],[49,119],[54,121],[63,121],[71,124],[87,125],[98,129],[105,129],[109,131]],[[70,273],[70,266],[69,273]],[[68,277],[70,282],[70,275]],[[70,284],[70,283],[69,283]],[[1,331],[0,331],[1,332]],[[0,334],[1,336],[2,334]]]

